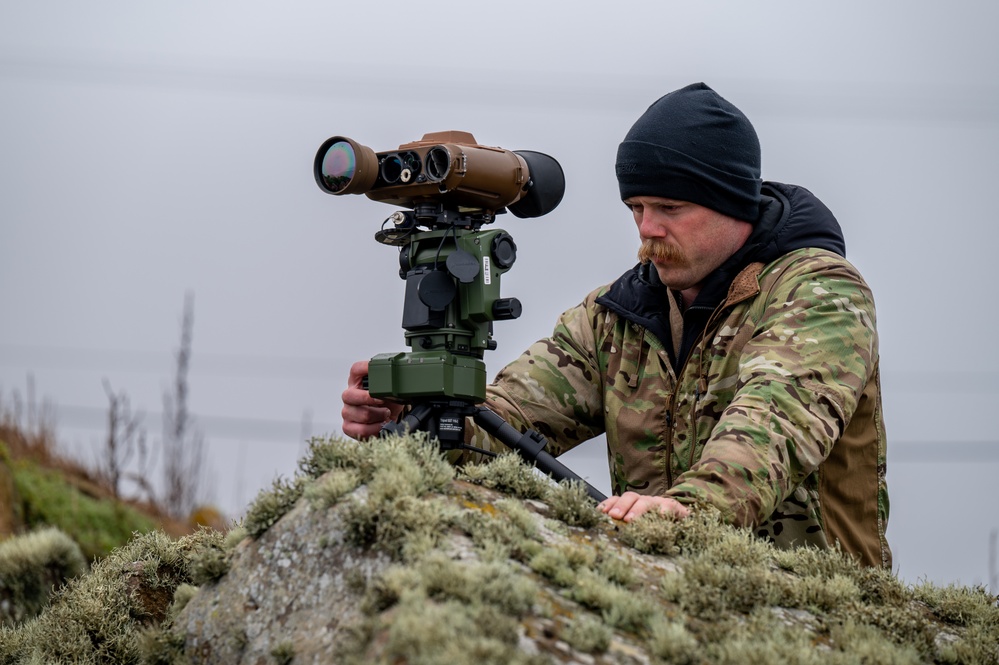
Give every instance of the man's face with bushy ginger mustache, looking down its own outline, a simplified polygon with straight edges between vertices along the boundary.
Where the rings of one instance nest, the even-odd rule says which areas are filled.
[[[651,262],[662,283],[679,291],[700,287],[753,230],[747,222],[687,201],[633,196],[624,203],[642,239],[639,260]]]

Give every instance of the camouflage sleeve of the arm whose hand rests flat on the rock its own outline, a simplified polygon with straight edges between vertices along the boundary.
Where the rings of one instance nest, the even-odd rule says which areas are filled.
[[[852,265],[812,251],[776,269],[751,307],[734,398],[667,492],[737,525],[766,520],[818,468],[878,362],[873,298]]]

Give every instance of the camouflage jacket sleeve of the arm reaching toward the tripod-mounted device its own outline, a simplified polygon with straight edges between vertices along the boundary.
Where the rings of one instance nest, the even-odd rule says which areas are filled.
[[[539,431],[555,456],[603,432],[594,325],[601,315],[595,294],[564,312],[552,336],[532,344],[487,389],[487,407],[520,431]],[[504,449],[478,428],[470,443]]]

